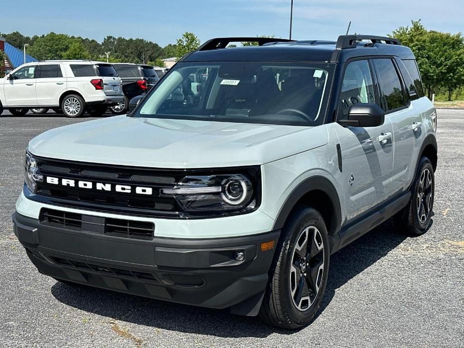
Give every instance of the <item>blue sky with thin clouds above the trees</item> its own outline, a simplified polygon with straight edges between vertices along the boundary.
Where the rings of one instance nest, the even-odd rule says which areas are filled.
[[[6,1],[6,0],[3,0]],[[2,2],[3,2],[2,1]],[[290,0],[88,1],[21,0],[0,20],[0,32],[51,31],[89,37],[143,38],[162,46],[193,32],[202,42],[220,36],[288,37]],[[351,33],[386,35],[411,20],[427,29],[464,31],[463,0],[294,0],[293,38],[335,40]],[[74,4],[79,4],[76,6]]]

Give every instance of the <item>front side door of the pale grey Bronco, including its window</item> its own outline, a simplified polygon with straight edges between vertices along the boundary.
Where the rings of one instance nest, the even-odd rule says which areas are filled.
[[[371,64],[367,59],[347,63],[340,93],[337,119],[347,119],[356,103],[380,104]],[[343,163],[344,204],[347,222],[385,201],[391,192],[393,167],[393,128],[389,118],[378,127],[335,129],[340,141]]]

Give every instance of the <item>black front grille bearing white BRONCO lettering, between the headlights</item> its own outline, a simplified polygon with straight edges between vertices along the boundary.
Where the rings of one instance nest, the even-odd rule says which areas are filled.
[[[29,198],[54,205],[142,216],[179,217],[180,207],[173,197],[160,195],[173,188],[185,176],[183,170],[158,170],[37,158],[44,183]],[[73,181],[74,186],[54,185],[47,177]],[[92,189],[78,187],[79,181],[91,183]],[[96,189],[97,183],[109,185]],[[130,187],[131,192],[116,192],[116,186]],[[108,190],[107,188],[111,189]],[[151,195],[136,194],[137,187],[148,188]]]

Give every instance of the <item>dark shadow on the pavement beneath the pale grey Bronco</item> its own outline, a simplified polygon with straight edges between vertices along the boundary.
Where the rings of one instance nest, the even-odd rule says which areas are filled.
[[[406,236],[396,231],[390,219],[332,255],[326,295],[317,316],[329,305],[336,289],[387,255],[405,238]],[[159,301],[84,285],[57,282],[51,291],[57,300],[69,306],[110,319],[165,330],[220,337],[258,338],[267,337],[274,332],[295,332],[269,327],[257,317],[232,315],[227,310]]]

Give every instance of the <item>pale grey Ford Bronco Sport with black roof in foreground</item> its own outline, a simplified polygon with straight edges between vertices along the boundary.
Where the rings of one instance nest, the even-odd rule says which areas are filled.
[[[31,140],[14,231],[58,280],[297,328],[331,254],[393,216],[427,231],[435,130],[395,39],[212,39],[130,114]]]

